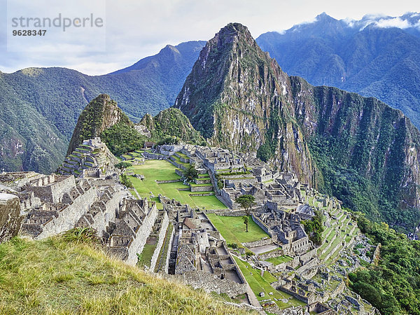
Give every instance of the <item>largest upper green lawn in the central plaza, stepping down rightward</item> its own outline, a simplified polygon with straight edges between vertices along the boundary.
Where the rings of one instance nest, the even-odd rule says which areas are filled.
[[[149,197],[150,192],[156,197],[162,194],[170,199],[175,199],[182,204],[189,204],[190,207],[205,207],[206,209],[226,209],[226,206],[219,201],[216,196],[190,197],[190,191],[179,191],[177,188],[188,188],[183,183],[162,183],[158,181],[167,181],[180,179],[181,177],[175,173],[176,167],[164,160],[146,160],[144,165],[133,165],[128,170],[134,174],[143,174],[145,179],[137,179],[130,176],[130,179],[141,197]],[[155,201],[158,201],[155,199]],[[162,204],[158,203],[158,208],[162,209]]]

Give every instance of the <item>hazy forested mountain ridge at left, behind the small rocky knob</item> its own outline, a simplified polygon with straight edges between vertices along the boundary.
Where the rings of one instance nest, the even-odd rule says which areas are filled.
[[[104,76],[65,68],[0,72],[0,169],[55,170],[80,112],[99,94],[109,94],[134,121],[171,106],[203,45],[167,45],[157,55]]]

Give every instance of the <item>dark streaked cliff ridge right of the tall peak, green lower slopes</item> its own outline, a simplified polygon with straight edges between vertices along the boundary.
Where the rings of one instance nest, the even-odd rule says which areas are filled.
[[[412,230],[420,221],[420,133],[373,97],[291,77],[296,118],[321,190],[347,207]]]

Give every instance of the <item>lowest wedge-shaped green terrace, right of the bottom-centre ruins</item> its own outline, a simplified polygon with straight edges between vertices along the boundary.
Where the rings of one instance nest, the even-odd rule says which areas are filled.
[[[290,298],[291,296],[287,293],[283,293],[274,289],[269,283],[277,281],[277,279],[269,272],[264,272],[264,275],[261,276],[261,271],[259,269],[253,269],[251,265],[248,264],[248,262],[244,262],[235,256],[234,258],[239,266],[239,269],[241,269],[242,274],[244,274],[244,277],[249,286],[251,286],[251,290],[253,290],[253,293],[255,293],[259,301],[271,298],[281,309],[286,309],[287,307],[291,306],[306,305],[304,302],[296,300],[294,297]],[[260,292],[264,292],[265,297],[260,297]],[[269,295],[270,292],[273,294]],[[276,298],[278,301],[275,301],[274,298]],[[283,302],[282,300],[284,299],[290,300]]]

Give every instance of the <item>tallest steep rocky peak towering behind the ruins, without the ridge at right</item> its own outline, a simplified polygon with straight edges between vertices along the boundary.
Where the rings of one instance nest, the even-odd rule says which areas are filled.
[[[250,152],[312,183],[290,80],[248,29],[231,23],[200,52],[174,107],[211,145]]]

